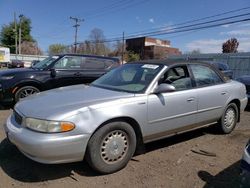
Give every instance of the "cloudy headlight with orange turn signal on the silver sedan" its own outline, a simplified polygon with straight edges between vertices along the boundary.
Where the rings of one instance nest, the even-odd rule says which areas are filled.
[[[26,118],[25,126],[39,132],[59,133],[71,131],[75,125],[71,122],[47,121],[34,118]]]

